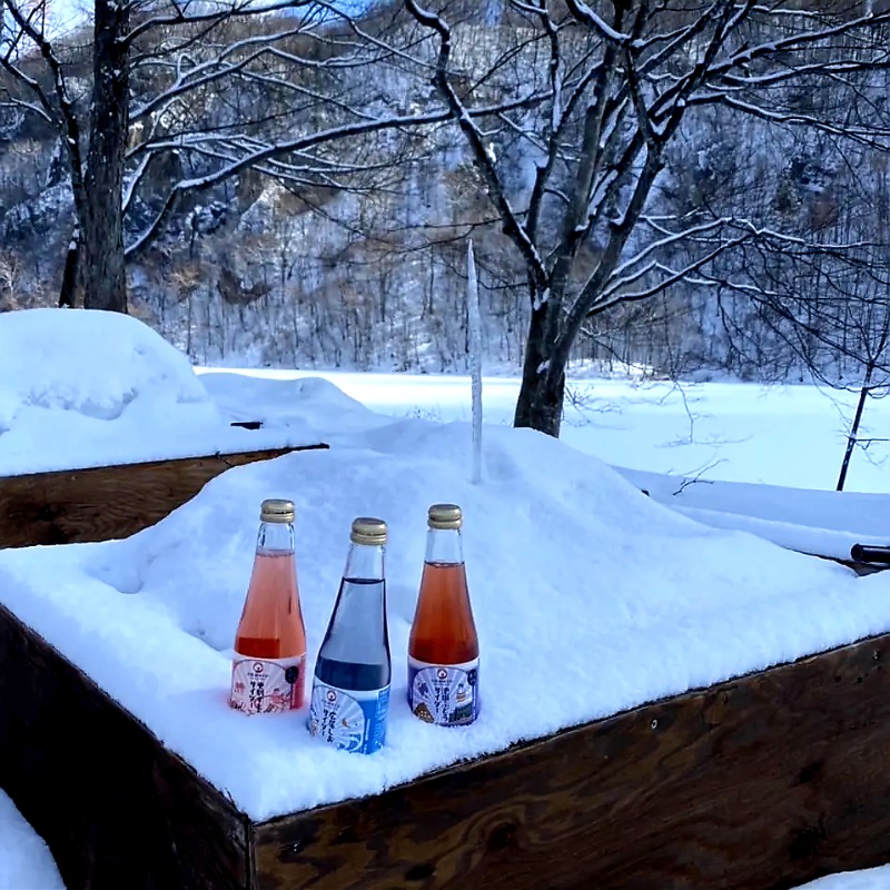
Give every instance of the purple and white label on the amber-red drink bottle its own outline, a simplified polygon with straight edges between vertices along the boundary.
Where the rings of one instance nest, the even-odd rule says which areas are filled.
[[[438,726],[466,726],[479,714],[479,660],[429,664],[408,657],[412,713]]]

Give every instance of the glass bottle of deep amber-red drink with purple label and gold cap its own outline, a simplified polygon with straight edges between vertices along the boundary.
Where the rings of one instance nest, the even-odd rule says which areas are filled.
[[[427,514],[426,556],[408,639],[408,704],[415,716],[463,726],[479,713],[479,643],[456,504]]]

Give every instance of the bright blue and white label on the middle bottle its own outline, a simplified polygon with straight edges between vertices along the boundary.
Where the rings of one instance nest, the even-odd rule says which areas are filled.
[[[309,711],[309,732],[342,751],[373,754],[386,739],[389,686],[344,690],[316,678]]]

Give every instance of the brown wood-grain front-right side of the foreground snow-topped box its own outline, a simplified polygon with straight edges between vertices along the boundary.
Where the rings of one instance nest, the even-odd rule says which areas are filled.
[[[888,862],[888,664],[890,634],[256,825],[256,887],[781,890]]]

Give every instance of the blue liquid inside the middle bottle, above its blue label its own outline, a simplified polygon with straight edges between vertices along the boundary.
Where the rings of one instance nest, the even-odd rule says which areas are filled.
[[[315,675],[330,686],[356,692],[372,692],[389,685],[386,582],[343,578],[315,663]]]

